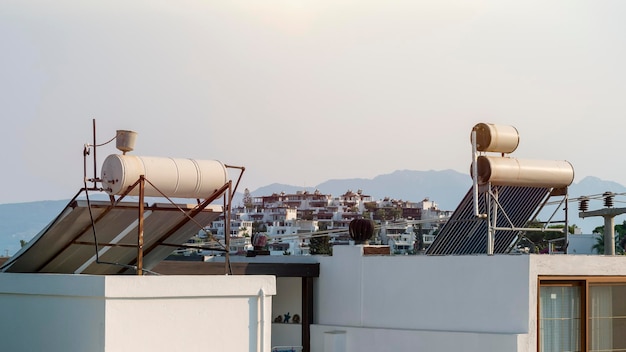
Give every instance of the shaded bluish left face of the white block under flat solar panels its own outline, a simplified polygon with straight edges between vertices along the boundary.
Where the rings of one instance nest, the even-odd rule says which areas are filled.
[[[104,351],[104,280],[0,274],[0,349]]]

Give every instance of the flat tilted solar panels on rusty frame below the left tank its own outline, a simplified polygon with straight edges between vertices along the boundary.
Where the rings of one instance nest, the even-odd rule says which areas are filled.
[[[3,272],[119,274],[137,264],[139,204],[72,200],[24,248],[7,261]],[[181,211],[182,210],[182,211]],[[143,269],[150,270],[176,246],[196,235],[222,213],[222,207],[145,205]],[[92,227],[93,219],[93,227]],[[93,228],[95,228],[95,236]],[[98,256],[96,256],[96,240]]]

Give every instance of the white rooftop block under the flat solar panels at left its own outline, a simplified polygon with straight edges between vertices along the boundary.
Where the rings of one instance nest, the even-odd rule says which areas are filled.
[[[7,351],[264,351],[273,276],[0,274]]]

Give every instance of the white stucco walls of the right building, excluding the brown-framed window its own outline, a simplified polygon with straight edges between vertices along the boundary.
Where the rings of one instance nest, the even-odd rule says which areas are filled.
[[[320,258],[314,352],[536,351],[540,276],[626,275],[626,257],[363,256]]]

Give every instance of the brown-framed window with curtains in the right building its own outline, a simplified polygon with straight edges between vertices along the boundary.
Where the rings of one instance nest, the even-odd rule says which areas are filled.
[[[626,351],[626,278],[540,279],[539,351]]]

